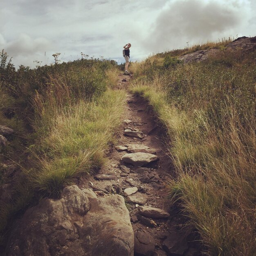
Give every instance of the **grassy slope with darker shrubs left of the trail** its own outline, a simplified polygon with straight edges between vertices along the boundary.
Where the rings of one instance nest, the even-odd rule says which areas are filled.
[[[20,122],[29,121],[33,129],[25,149],[29,166],[21,166],[11,202],[1,205],[3,231],[10,217],[35,195],[56,197],[64,186],[103,164],[121,123],[126,94],[114,90],[119,71],[111,61],[91,59],[36,70],[0,71],[0,91],[5,93],[0,98],[0,123],[12,126],[20,117]],[[11,97],[15,116],[6,119],[2,112],[10,109],[5,101]],[[19,115],[22,112],[26,115]],[[11,149],[15,153],[16,148]]]

